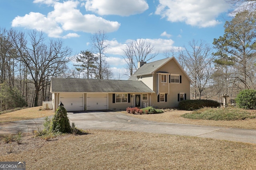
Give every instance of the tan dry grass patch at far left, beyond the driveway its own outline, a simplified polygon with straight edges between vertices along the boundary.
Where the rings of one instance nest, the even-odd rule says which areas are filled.
[[[54,112],[52,110],[42,110],[42,106],[30,107],[22,110],[13,111],[10,113],[1,114],[0,123],[35,119],[35,118],[46,117],[50,115],[54,115]]]

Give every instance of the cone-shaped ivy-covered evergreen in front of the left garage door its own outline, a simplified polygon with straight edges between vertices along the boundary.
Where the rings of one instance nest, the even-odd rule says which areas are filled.
[[[67,110],[63,107],[63,104],[60,102],[60,106],[56,110],[54,116],[52,117],[52,126],[51,130],[54,133],[70,133],[71,127],[67,115]]]

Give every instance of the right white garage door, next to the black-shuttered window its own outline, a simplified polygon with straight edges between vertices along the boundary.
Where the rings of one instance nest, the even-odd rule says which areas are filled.
[[[87,94],[87,110],[108,109],[108,94]]]

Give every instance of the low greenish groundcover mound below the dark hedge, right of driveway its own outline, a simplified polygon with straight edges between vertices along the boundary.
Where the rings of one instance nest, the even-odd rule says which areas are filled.
[[[255,119],[256,113],[249,112],[245,109],[239,108],[202,108],[193,111],[192,113],[186,113],[181,117],[187,119],[203,119],[203,120],[215,120],[215,121],[236,121],[245,119]]]

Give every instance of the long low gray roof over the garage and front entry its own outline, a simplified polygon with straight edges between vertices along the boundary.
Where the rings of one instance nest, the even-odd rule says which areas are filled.
[[[155,93],[141,81],[52,78],[51,92]]]

